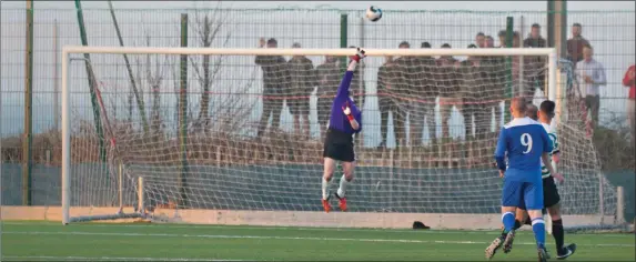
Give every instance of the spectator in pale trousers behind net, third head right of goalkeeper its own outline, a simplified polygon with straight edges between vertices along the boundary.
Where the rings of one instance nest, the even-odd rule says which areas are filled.
[[[451,48],[451,44],[444,43],[442,48]],[[453,105],[462,110],[462,97],[458,90],[457,75],[455,74],[455,67],[460,66],[460,62],[452,56],[441,56],[436,62],[435,82],[437,83],[437,90],[440,92],[442,135],[443,138],[447,138],[450,135],[448,120],[451,119]]]

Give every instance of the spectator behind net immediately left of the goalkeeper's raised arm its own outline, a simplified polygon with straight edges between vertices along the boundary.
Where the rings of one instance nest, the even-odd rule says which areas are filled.
[[[331,104],[337,92],[340,84],[341,71],[337,66],[337,58],[325,56],[324,62],[316,67],[317,79],[317,119],[321,131],[321,138],[324,139],[326,124],[331,113]]]

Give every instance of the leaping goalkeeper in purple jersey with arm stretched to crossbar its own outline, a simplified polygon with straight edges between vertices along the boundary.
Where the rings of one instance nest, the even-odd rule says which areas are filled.
[[[351,99],[349,87],[351,85],[355,67],[364,57],[364,50],[357,48],[357,53],[351,57],[349,68],[340,82],[331,105],[331,117],[324,140],[324,173],[322,178],[322,205],[327,213],[331,211],[329,183],[335,170],[335,161],[342,162],[344,174],[340,179],[340,188],[334,195],[339,199],[340,209],[346,211],[345,187],[353,180],[353,169],[355,168],[353,135],[362,130],[362,112]]]

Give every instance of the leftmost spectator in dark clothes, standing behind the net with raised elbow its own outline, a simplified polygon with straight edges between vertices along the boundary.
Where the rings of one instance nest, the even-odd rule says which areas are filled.
[[[263,48],[265,40],[261,38],[259,47]],[[276,39],[266,42],[267,48],[277,48]],[[258,137],[262,138],[267,127],[267,120],[272,114],[272,129],[279,129],[281,111],[283,109],[284,90],[289,90],[291,83],[287,61],[281,56],[256,56],[255,63],[263,70],[263,114],[259,123]]]

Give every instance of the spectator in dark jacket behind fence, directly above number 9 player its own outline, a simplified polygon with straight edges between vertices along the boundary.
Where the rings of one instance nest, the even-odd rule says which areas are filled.
[[[546,48],[547,42],[541,37],[541,26],[534,23],[531,28],[531,34],[524,40],[525,48]],[[526,100],[534,98],[535,90],[545,87],[545,67],[546,61],[542,56],[531,56],[524,58],[524,78],[526,87],[523,97]]]

